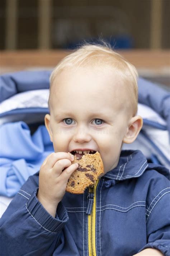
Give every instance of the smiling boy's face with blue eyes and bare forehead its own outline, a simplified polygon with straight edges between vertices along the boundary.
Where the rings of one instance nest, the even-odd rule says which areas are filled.
[[[50,116],[45,117],[55,152],[93,149],[101,155],[104,172],[112,170],[132,117],[128,105],[118,73],[63,71],[51,86]]]

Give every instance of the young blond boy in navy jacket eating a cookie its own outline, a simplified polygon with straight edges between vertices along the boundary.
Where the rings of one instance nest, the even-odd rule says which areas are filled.
[[[55,153],[4,213],[1,256],[170,255],[169,180],[140,150],[122,151],[143,125],[137,78],[106,45],[84,45],[57,65],[45,116]],[[70,153],[90,150],[104,175],[84,194],[67,193]]]

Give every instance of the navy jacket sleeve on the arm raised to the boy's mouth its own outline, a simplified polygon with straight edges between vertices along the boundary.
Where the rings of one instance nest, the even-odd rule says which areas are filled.
[[[52,255],[69,220],[62,202],[56,217],[37,199],[37,177],[30,176],[0,219],[0,255]]]

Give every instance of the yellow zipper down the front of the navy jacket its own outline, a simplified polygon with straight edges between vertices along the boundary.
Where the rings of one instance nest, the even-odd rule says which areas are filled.
[[[95,235],[95,226],[96,226],[96,187],[99,183],[99,180],[96,181],[94,186],[89,187],[89,193],[94,193],[94,202],[91,210],[91,214],[88,215],[88,243],[89,243],[89,256],[96,256],[96,235]]]

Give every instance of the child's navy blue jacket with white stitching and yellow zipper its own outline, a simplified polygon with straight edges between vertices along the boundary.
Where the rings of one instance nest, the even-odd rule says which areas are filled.
[[[0,219],[0,255],[131,256],[156,248],[170,256],[168,170],[141,151],[123,150],[117,167],[84,194],[65,193],[52,217],[30,176]]]

